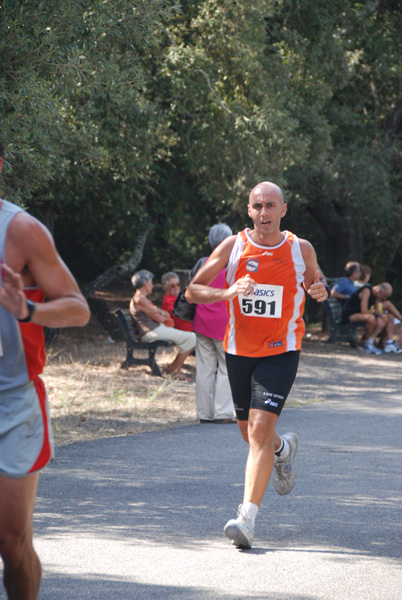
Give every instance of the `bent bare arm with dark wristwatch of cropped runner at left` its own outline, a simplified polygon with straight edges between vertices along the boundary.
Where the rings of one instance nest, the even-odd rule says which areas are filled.
[[[38,286],[49,302],[36,304],[32,323],[47,327],[86,325],[91,314],[88,304],[42,223],[27,213],[16,215],[8,230],[5,258],[0,302],[16,318],[28,316],[24,286]]]

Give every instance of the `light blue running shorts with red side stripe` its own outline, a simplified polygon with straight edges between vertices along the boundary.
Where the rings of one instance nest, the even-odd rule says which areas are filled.
[[[0,474],[25,477],[53,456],[49,407],[43,381],[0,392]]]

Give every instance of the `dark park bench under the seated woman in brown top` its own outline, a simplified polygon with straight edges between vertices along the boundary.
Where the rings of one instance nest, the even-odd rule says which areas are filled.
[[[162,372],[155,359],[158,348],[172,346],[172,342],[157,340],[156,342],[141,342],[135,321],[129,310],[118,308],[115,312],[121,327],[123,339],[126,342],[127,355],[122,362],[121,368],[128,369],[132,365],[149,365],[152,375],[163,377]],[[134,355],[133,355],[134,353]],[[144,356],[147,354],[147,356]]]

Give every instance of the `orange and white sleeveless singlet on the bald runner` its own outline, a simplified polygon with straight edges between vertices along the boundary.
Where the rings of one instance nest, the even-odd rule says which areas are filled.
[[[284,231],[278,246],[260,246],[250,229],[237,234],[226,271],[228,287],[250,275],[256,286],[249,296],[228,302],[229,323],[223,342],[228,354],[260,357],[300,350],[304,334],[306,266],[298,238]]]

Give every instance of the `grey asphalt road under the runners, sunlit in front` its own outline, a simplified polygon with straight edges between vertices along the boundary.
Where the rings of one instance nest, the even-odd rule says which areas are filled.
[[[222,531],[242,499],[237,426],[59,448],[36,506],[40,600],[400,600],[402,358],[355,356],[303,359],[278,427],[299,436],[296,485],[269,484],[251,550]]]

